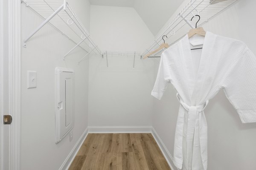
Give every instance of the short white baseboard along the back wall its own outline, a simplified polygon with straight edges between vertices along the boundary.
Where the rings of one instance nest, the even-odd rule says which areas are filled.
[[[89,133],[151,133],[152,126],[89,126]]]

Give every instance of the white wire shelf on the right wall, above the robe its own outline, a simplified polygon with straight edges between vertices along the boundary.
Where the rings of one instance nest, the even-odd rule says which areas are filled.
[[[189,0],[189,3],[176,15],[174,20],[169,23],[166,28],[161,31],[152,44],[143,52],[143,56],[154,51],[161,44],[163,35],[167,35],[169,44],[173,44],[191,28],[195,28],[198,17],[191,18],[199,14],[201,19],[197,26],[201,26],[208,22],[216,14],[220,13],[238,0]]]

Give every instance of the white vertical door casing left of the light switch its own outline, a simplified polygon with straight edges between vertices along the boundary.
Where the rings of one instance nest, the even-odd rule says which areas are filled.
[[[20,0],[8,0],[10,170],[20,170]]]

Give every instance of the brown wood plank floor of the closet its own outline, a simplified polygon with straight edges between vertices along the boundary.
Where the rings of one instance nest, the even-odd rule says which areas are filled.
[[[171,170],[151,133],[90,133],[69,170]]]

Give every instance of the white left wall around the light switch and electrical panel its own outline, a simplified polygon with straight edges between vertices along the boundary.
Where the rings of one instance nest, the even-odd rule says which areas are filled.
[[[90,27],[90,3],[88,0],[70,1],[84,26]],[[22,5],[22,40],[42,19]],[[58,170],[87,128],[88,120],[88,72],[89,59],[80,65],[86,54],[76,48],[65,61],[64,54],[75,44],[49,24],[41,28],[22,47],[21,56],[21,170]],[[55,144],[55,67],[72,68],[75,71],[75,122],[73,140],[69,134]],[[27,89],[27,71],[37,71],[37,88]]]

